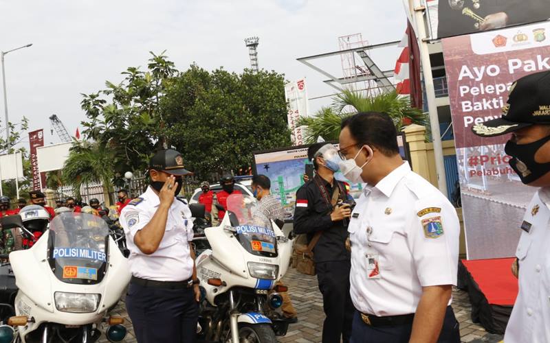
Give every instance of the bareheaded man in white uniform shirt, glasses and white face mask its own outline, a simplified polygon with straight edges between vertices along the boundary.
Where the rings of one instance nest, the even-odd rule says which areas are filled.
[[[410,170],[395,124],[382,113],[342,122],[340,170],[367,182],[349,222],[352,343],[460,342],[450,307],[459,263],[459,218]]]

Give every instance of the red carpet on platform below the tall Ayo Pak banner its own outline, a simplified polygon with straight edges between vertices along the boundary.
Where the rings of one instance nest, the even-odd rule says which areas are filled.
[[[511,306],[518,295],[518,279],[511,274],[511,259],[462,260],[489,305]]]

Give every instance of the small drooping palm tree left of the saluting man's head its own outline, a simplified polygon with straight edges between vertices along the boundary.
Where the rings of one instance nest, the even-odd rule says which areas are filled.
[[[115,152],[103,144],[75,142],[63,166],[63,183],[72,185],[76,196],[80,196],[82,185],[100,182],[105,204],[110,206],[109,194],[113,191],[115,177],[111,167],[114,158]]]

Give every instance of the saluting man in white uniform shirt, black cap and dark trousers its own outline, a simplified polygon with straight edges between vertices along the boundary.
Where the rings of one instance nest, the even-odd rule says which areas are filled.
[[[200,291],[191,211],[175,198],[187,174],[179,152],[157,152],[151,184],[120,215],[132,273],[126,309],[140,343],[196,342]]]

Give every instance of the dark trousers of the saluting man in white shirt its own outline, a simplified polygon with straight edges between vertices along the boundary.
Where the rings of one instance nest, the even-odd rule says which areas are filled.
[[[131,283],[126,309],[138,343],[195,343],[199,304],[192,288],[165,289]]]

